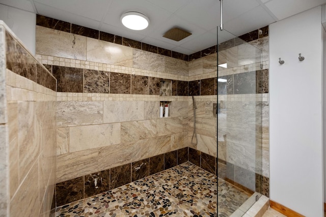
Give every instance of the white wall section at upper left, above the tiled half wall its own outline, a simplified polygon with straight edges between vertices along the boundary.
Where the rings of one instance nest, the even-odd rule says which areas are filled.
[[[0,4],[0,20],[3,20],[35,55],[36,14]]]

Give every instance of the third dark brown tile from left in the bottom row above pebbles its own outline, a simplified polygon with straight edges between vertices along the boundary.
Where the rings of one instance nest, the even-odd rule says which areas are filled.
[[[110,189],[118,188],[131,182],[131,164],[125,164],[110,170]]]

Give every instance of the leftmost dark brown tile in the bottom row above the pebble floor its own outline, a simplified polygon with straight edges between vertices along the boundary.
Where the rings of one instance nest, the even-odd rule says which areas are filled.
[[[57,207],[84,198],[84,176],[56,184]]]

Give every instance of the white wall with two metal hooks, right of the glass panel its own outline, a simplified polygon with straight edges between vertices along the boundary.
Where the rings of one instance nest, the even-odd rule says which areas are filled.
[[[323,216],[322,49],[321,7],[269,25],[270,199],[308,217]]]

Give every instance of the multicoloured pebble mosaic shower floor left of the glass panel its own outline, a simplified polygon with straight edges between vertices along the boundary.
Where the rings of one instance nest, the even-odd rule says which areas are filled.
[[[57,207],[55,216],[218,216],[217,182],[215,175],[186,162]]]

